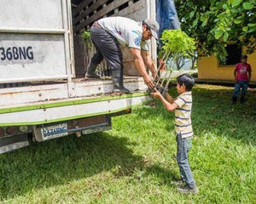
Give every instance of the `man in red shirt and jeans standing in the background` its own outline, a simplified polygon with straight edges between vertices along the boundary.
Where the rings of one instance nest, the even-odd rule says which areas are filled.
[[[235,105],[241,89],[241,104],[244,104],[247,94],[247,87],[252,76],[251,65],[247,64],[247,55],[241,56],[241,62],[237,63],[234,69],[235,90],[232,96],[232,104]]]

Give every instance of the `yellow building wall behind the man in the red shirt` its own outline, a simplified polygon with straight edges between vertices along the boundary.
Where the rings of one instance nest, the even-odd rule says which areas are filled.
[[[247,63],[252,67],[252,82],[256,82],[256,52],[247,54]],[[216,57],[202,57],[198,59],[198,78],[215,80],[234,80],[235,65],[218,66]]]

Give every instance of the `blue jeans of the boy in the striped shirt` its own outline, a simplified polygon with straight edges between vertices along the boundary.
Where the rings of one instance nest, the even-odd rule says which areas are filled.
[[[190,188],[195,188],[195,180],[189,167],[188,152],[192,147],[192,139],[182,139],[181,134],[177,134],[177,165],[182,178]]]

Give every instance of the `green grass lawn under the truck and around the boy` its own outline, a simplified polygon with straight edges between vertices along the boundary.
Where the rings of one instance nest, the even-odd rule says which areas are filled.
[[[157,101],[113,118],[108,132],[0,155],[0,203],[256,203],[256,90],[246,105],[230,105],[232,91],[193,90],[189,162],[198,195],[180,195],[173,184],[174,113]]]

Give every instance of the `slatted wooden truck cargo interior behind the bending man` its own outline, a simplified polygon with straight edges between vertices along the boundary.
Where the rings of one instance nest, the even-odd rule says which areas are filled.
[[[92,26],[96,20],[108,16],[123,16],[137,21],[142,21],[149,17],[154,18],[154,13],[151,12],[150,8],[153,10],[155,8],[154,1],[152,0],[73,0],[73,49],[76,77],[84,77],[90,59],[95,53],[95,48],[88,46],[81,37],[84,31],[90,31],[90,26]],[[155,48],[153,39],[150,53],[156,62]],[[123,53],[124,76],[130,78],[134,77],[134,80],[136,80],[137,77],[141,75],[134,65],[134,59],[130,49],[121,47],[121,51]],[[103,78],[111,76],[108,65],[104,59],[102,63],[98,65],[96,74]]]

